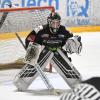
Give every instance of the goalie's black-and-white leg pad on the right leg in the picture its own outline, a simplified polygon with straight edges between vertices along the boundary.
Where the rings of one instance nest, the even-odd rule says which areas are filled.
[[[51,63],[71,88],[81,81],[80,73],[60,49],[55,52]]]

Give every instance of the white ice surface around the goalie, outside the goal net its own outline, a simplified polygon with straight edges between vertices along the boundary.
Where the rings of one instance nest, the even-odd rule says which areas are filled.
[[[100,76],[100,32],[82,33],[83,49],[80,55],[69,55],[73,65],[81,73],[83,79]],[[2,59],[2,58],[0,58]],[[0,71],[0,100],[59,100],[59,96],[34,95],[32,90],[46,89],[40,77],[31,84],[27,92],[18,92],[13,84],[18,69]],[[57,73],[46,73],[54,88],[69,88]]]

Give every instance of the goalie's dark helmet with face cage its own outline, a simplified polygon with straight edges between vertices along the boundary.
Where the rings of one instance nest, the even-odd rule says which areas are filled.
[[[47,22],[49,24],[51,33],[53,34],[57,33],[60,27],[60,20],[61,20],[61,17],[58,13],[51,13],[49,15],[49,17],[47,18]]]

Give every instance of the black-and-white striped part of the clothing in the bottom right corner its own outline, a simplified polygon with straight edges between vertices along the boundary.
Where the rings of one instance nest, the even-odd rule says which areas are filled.
[[[64,93],[60,100],[100,100],[100,92],[90,84],[78,84],[70,93]]]

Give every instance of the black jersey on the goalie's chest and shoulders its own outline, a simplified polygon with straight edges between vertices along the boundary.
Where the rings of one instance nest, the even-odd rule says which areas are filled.
[[[45,47],[58,48],[64,46],[67,39],[72,36],[73,34],[67,31],[64,26],[60,26],[56,34],[50,31],[49,26],[46,26],[37,33],[35,42]]]

